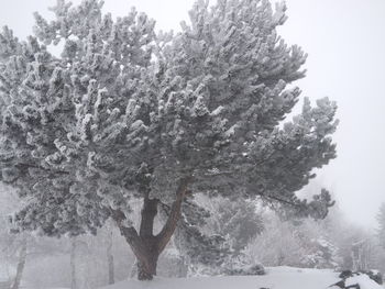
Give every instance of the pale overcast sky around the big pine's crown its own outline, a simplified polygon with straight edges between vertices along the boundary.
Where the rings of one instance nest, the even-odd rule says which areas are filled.
[[[24,38],[32,12],[50,15],[55,0],[0,0],[0,25]],[[74,3],[80,0],[74,0]],[[105,10],[122,15],[135,5],[178,30],[194,0],[106,0]],[[287,0],[288,21],[279,33],[308,54],[307,77],[297,82],[302,97],[329,97],[339,104],[334,136],[338,158],[319,173],[349,219],[375,226],[385,202],[385,0]]]

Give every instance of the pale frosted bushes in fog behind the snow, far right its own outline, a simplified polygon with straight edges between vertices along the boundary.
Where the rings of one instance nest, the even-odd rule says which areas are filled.
[[[262,216],[265,230],[244,253],[264,266],[385,270],[385,251],[374,232],[346,221],[338,207],[323,220]]]

